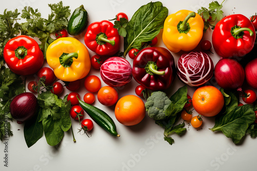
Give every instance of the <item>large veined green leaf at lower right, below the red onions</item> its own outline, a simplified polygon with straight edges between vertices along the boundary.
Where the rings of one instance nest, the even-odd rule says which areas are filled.
[[[223,134],[231,138],[234,143],[239,143],[245,135],[248,126],[255,120],[255,113],[253,106],[245,104],[243,106],[236,106],[231,112],[224,115],[219,115],[215,119],[215,125],[212,129],[214,131],[222,131]]]

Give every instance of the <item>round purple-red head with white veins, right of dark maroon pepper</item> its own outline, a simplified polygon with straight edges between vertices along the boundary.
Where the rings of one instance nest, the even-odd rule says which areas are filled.
[[[185,53],[177,62],[178,78],[191,87],[201,86],[209,81],[213,70],[212,59],[200,51]]]

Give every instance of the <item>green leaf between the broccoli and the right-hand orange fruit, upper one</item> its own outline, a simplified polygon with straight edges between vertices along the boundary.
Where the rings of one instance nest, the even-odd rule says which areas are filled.
[[[186,104],[188,88],[187,86],[183,86],[179,88],[170,98],[171,104],[165,111],[166,116],[175,116],[178,112],[180,112],[184,105]]]

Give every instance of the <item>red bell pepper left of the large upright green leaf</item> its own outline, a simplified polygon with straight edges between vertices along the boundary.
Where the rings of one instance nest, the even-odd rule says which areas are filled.
[[[113,26],[107,20],[90,24],[84,38],[85,45],[98,55],[116,54],[120,49],[120,35]]]

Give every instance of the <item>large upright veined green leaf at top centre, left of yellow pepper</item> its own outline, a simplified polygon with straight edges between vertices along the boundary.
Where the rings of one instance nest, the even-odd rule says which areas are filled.
[[[153,40],[163,28],[167,16],[168,9],[161,2],[141,6],[126,25],[123,56],[133,48],[140,49],[142,42]]]

